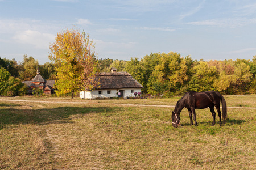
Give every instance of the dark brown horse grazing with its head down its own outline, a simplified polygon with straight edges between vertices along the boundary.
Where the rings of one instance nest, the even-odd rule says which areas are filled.
[[[210,108],[210,112],[212,112],[212,126],[215,125],[215,116],[216,113],[214,112],[214,107],[217,109],[218,117],[220,118],[220,126],[221,126],[221,111],[220,111],[220,102],[222,105],[222,118],[223,123],[226,122],[226,101],[224,97],[216,91],[205,91],[205,92],[195,92],[189,91],[187,92],[179,101],[172,111],[172,126],[177,128],[180,122],[180,112],[183,108],[188,109],[188,114],[190,118],[190,124],[193,125],[193,120],[195,121],[195,125],[197,126],[196,122],[196,111],[195,109],[204,109]],[[192,120],[193,116],[193,120]]]

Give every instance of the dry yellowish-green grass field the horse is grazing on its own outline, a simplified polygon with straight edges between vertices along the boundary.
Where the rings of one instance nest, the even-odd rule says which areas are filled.
[[[255,169],[256,95],[224,96],[228,120],[172,99],[0,97],[0,169]]]

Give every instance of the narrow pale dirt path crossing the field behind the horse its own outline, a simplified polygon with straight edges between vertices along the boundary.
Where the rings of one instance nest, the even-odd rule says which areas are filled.
[[[21,102],[34,102],[34,103],[52,103],[52,101],[41,101],[41,100],[11,100],[11,99],[0,99],[0,101],[21,101]],[[147,104],[119,104],[119,103],[89,103],[89,102],[79,102],[79,101],[55,101],[54,103],[63,104],[106,104],[106,105],[123,105],[127,107],[166,107],[174,108],[175,105],[147,105]],[[253,107],[228,107],[232,109],[256,109]]]

